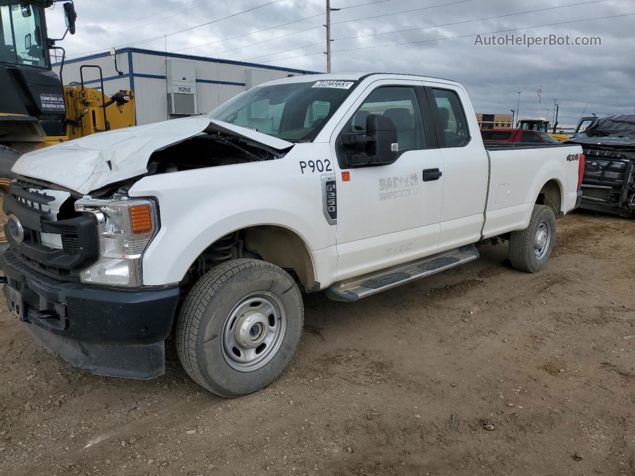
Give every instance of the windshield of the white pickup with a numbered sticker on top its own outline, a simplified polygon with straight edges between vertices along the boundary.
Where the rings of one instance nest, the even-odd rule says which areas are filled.
[[[313,140],[349,95],[353,81],[257,86],[208,114],[290,142]]]

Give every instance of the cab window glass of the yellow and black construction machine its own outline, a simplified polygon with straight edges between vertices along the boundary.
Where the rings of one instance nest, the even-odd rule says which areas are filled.
[[[40,9],[0,0],[0,62],[46,67]]]

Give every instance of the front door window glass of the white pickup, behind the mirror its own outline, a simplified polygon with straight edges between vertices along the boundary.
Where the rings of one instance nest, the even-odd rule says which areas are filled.
[[[384,86],[375,89],[351,118],[349,131],[366,132],[366,119],[371,114],[391,119],[397,130],[399,151],[426,147],[424,124],[414,88]]]

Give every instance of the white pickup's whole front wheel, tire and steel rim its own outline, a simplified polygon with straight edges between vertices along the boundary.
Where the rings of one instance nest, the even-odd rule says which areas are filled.
[[[303,324],[300,289],[288,273],[266,261],[227,261],[187,294],[178,314],[178,357],[201,387],[239,397],[283,373]]]

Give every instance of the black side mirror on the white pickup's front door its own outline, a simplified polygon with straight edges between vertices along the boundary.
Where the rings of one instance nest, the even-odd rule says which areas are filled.
[[[366,117],[366,133],[342,135],[347,165],[386,165],[397,160],[399,143],[392,119],[381,114]]]

